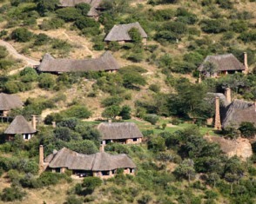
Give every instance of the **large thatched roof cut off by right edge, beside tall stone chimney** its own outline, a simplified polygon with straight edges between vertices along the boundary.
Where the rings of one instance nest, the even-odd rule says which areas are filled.
[[[253,102],[234,100],[226,107],[222,116],[222,128],[239,128],[241,122],[253,122],[256,125],[256,109]]]

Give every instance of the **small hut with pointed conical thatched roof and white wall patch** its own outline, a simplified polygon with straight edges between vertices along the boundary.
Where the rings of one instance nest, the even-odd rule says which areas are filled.
[[[23,115],[17,115],[10,123],[10,126],[4,131],[4,134],[6,135],[7,141],[12,141],[15,135],[23,135],[24,140],[28,141],[36,132],[36,127],[32,127]]]

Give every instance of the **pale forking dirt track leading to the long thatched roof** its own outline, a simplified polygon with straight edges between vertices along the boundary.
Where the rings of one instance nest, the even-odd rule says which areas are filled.
[[[0,40],[0,45],[4,46],[9,51],[10,55],[13,56],[14,58],[21,59],[24,62],[26,62],[26,66],[25,67],[27,67],[27,66],[34,67],[34,66],[37,66],[37,65],[40,64],[40,62],[37,61],[37,60],[33,60],[33,59],[31,59],[31,58],[29,58],[27,56],[23,56],[23,55],[19,54],[17,52],[17,50],[10,43],[7,43],[7,42],[5,42],[3,40]],[[20,68],[20,69],[12,70],[12,71],[10,71],[9,75],[14,75],[18,71],[24,69],[25,67]]]

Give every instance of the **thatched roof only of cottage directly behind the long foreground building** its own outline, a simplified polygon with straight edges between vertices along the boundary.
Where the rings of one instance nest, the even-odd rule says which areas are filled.
[[[103,122],[98,125],[102,140],[118,140],[143,137],[134,122]]]

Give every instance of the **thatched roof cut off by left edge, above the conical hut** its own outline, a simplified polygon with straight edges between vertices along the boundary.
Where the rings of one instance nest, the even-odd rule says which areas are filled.
[[[23,106],[17,95],[7,95],[0,93],[0,110],[17,109]]]

